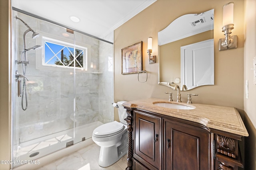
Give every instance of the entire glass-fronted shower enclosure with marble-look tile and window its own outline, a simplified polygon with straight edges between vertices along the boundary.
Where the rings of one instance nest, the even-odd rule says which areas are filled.
[[[95,127],[114,120],[113,45],[12,12],[12,159],[16,162],[84,141]]]

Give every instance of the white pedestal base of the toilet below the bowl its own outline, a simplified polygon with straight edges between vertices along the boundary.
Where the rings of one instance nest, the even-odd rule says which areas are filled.
[[[124,133],[121,141],[123,141],[121,145],[119,143],[112,147],[100,147],[99,165],[101,167],[116,163],[127,153],[127,133]]]

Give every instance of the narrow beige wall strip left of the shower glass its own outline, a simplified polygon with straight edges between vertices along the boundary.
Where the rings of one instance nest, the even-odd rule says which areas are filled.
[[[10,32],[9,8],[10,0],[0,0],[0,160],[10,160],[10,90],[9,59]],[[8,164],[0,164],[1,170],[10,169]]]

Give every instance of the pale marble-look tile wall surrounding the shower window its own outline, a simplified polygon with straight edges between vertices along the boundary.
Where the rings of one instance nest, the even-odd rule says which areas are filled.
[[[62,37],[63,27],[38,20],[16,12],[32,29]],[[26,27],[19,21],[18,60],[23,49],[23,33]],[[27,47],[33,47],[37,41],[27,36]],[[76,127],[101,121],[108,123],[114,119],[113,102],[113,45],[88,37],[81,33],[74,33],[74,42],[91,46],[91,62],[95,73],[75,73],[72,71],[52,71],[36,69],[36,53],[29,51],[30,64],[26,70],[28,109],[21,108],[21,98],[17,99],[18,127],[20,143],[30,141],[49,134],[57,133],[74,127],[74,97],[76,110]],[[43,50],[43,49],[41,49]],[[41,52],[39,50],[39,53]],[[22,74],[22,67],[19,66]],[[74,95],[75,89],[75,95]]]

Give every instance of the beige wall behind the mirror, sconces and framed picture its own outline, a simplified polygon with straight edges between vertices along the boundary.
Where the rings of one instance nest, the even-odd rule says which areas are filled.
[[[190,90],[197,93],[193,102],[234,106],[244,109],[244,1],[234,0],[233,35],[238,36],[238,48],[218,51],[222,33],[222,7],[230,0],[158,0],[114,31],[114,100],[140,98],[165,98],[164,92],[176,91],[158,85],[158,57],[156,64],[148,64],[147,38],[153,37],[152,55],[158,55],[157,33],[173,20],[184,14],[195,14],[214,9],[214,56],[215,85],[201,86]],[[184,5],[186,4],[186,5]],[[200,5],[198,5],[200,4]],[[142,68],[148,71],[148,81],[140,83],[137,74],[121,74],[121,49],[142,41]],[[187,101],[187,92],[181,92],[182,101]],[[174,95],[175,96],[175,95]],[[174,97],[175,98],[175,97]],[[117,115],[117,109],[115,109]],[[116,119],[117,116],[116,116]]]

